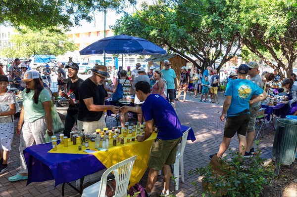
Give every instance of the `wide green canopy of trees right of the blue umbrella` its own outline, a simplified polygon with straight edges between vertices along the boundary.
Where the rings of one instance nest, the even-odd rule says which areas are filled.
[[[189,55],[194,56],[202,69],[216,60],[220,69],[249,50],[289,76],[297,58],[296,5],[293,0],[160,0],[124,15],[112,29],[167,47],[193,64]]]

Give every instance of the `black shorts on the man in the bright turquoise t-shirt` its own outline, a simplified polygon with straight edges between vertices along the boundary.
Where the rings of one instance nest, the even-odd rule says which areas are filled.
[[[249,114],[227,117],[224,128],[224,136],[232,138],[236,132],[237,134],[246,136],[249,119]]]

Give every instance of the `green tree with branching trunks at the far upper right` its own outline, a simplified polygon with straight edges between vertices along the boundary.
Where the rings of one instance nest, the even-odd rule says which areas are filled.
[[[293,0],[241,0],[234,22],[247,48],[284,77],[297,58],[297,7]],[[265,55],[269,53],[269,55]]]

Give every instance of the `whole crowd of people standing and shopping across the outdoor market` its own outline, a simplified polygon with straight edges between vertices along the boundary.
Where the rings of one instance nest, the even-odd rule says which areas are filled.
[[[183,101],[185,101],[192,77],[194,80],[194,98],[197,98],[199,93],[201,94],[200,102],[206,102],[208,94],[210,94],[209,102],[219,104],[220,76],[217,70],[212,67],[207,67],[203,73],[194,69],[191,76],[191,70],[187,70],[183,66],[181,67],[178,85],[177,75],[170,68],[170,62],[165,60],[163,63],[164,69],[158,71],[152,66],[148,72],[140,63],[137,63],[133,70],[130,66],[127,70],[123,70],[121,67],[117,70],[114,67],[111,73],[107,71],[105,66],[96,65],[92,69],[92,76],[85,80],[78,77],[78,64],[72,62],[64,68],[64,65],[60,63],[58,95],[65,97],[69,102],[63,131],[64,136],[67,137],[70,137],[70,132],[75,123],[78,132],[84,130],[83,134],[85,135],[94,134],[96,129],[106,127],[104,120],[104,111],[106,110],[119,114],[120,124],[123,127],[128,121],[127,113],[129,111],[137,113],[138,121],[140,123],[146,122],[148,128],[144,136],[137,137],[139,142],[149,138],[153,128],[152,122],[154,122],[159,133],[150,151],[146,189],[150,193],[156,181],[158,170],[163,169],[165,182],[162,193],[168,194],[170,165],[175,162],[177,145],[182,136],[179,119],[170,102],[174,102],[176,90],[178,90],[176,100],[180,99],[184,90]],[[66,72],[64,69],[67,71],[69,80],[65,80]],[[45,134],[51,136],[54,133],[51,119],[51,105],[54,100],[49,89],[50,85],[44,82],[47,80],[50,84],[51,71],[45,67],[42,73],[44,77],[39,72],[29,69],[28,65],[21,64],[19,59],[15,59],[14,64],[9,67],[8,77],[0,73],[0,102],[1,104],[5,103],[6,106],[1,105],[0,111],[1,173],[8,169],[7,161],[14,133],[13,115],[17,112],[15,95],[7,87],[10,85],[10,87],[23,90],[23,107],[16,128],[16,135],[20,136],[21,168],[15,176],[8,178],[9,181],[28,178],[23,150],[34,143],[44,143]],[[105,83],[109,78],[112,79],[113,83],[111,87]],[[222,121],[226,118],[226,124],[217,156],[221,157],[225,153],[232,137],[237,133],[239,152],[244,157],[252,157],[254,154],[252,145],[255,137],[255,118],[261,101],[268,96],[266,91],[269,81],[282,83],[283,89],[278,89],[278,94],[287,95],[283,103],[288,103],[291,107],[290,114],[297,115],[297,79],[295,74],[292,74],[290,79],[282,80],[277,72],[263,73],[260,76],[259,66],[256,62],[240,65],[237,71],[232,72],[228,77],[224,95],[225,101],[220,117]],[[115,105],[104,105],[107,92],[115,93],[119,85],[123,89],[122,98]],[[134,107],[130,105],[132,97],[134,97]],[[3,135],[4,132],[5,135]],[[161,144],[162,146],[159,146]],[[156,157],[160,154],[161,158]],[[209,158],[212,158],[213,155]]]

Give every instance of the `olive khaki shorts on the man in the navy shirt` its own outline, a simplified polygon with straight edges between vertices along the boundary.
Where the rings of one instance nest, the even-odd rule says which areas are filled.
[[[181,139],[181,137],[174,140],[155,139],[150,148],[148,167],[154,170],[161,170],[164,164],[174,164],[177,147]]]

